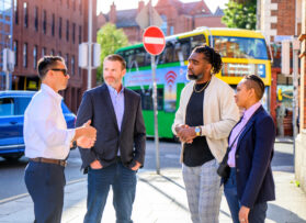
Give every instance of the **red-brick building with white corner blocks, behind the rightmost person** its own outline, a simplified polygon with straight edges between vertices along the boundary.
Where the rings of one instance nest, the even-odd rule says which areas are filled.
[[[271,114],[276,122],[277,91],[284,93],[283,103],[286,105],[287,115],[284,119],[285,135],[293,134],[292,127],[292,77],[281,73],[281,42],[292,40],[301,34],[302,29],[302,0],[260,0],[258,2],[259,29],[265,35],[272,48],[272,87],[271,87]]]

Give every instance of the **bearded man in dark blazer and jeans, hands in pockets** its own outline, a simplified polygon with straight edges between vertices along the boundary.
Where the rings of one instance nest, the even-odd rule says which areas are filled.
[[[146,130],[140,96],[123,87],[126,63],[120,55],[103,62],[106,83],[87,91],[78,111],[77,126],[91,120],[97,142],[80,148],[82,168],[88,170],[86,223],[101,222],[110,187],[117,223],[131,223],[136,192],[136,171],[144,165]]]

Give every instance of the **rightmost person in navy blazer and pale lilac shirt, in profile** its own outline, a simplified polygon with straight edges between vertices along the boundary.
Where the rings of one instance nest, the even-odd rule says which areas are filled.
[[[275,126],[260,100],[264,83],[256,76],[245,77],[235,96],[243,116],[229,135],[228,179],[224,179],[225,196],[235,223],[263,223],[268,201],[275,200],[271,169]]]

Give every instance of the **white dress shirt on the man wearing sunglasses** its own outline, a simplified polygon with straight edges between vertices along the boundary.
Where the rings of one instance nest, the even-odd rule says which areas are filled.
[[[65,159],[76,130],[67,130],[63,97],[47,85],[32,98],[24,113],[25,156]]]

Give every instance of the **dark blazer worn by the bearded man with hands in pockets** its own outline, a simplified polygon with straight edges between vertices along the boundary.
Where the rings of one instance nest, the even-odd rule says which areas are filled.
[[[82,168],[89,167],[95,159],[103,167],[110,166],[115,163],[118,148],[125,167],[132,168],[136,160],[144,165],[146,129],[138,93],[124,88],[124,114],[120,131],[107,86],[104,83],[86,91],[76,125],[81,126],[88,120],[97,129],[97,141],[91,149],[79,148]]]

